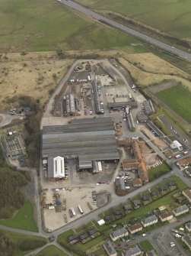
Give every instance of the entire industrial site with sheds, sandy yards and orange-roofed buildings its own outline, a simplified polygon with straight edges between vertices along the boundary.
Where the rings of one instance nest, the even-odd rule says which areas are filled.
[[[127,81],[113,58],[78,60],[49,100],[40,170],[48,232],[107,204],[114,193],[136,190],[148,183],[149,170],[153,180],[165,167],[149,141],[162,151],[172,141],[145,125],[154,105]],[[139,140],[142,134],[148,139]]]

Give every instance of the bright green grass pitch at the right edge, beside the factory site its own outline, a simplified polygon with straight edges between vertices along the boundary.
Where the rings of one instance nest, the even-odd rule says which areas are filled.
[[[191,122],[191,92],[188,89],[172,86],[156,93],[156,96],[187,122]]]

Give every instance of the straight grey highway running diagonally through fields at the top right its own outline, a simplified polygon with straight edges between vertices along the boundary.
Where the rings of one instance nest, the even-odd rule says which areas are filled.
[[[174,55],[177,55],[178,57],[181,57],[184,60],[191,61],[191,54],[186,53],[183,50],[179,50],[177,48],[171,47],[169,44],[164,44],[163,42],[158,41],[152,37],[148,37],[145,34],[142,34],[138,31],[133,30],[132,28],[123,26],[123,24],[119,24],[116,21],[112,21],[109,18],[99,15],[96,12],[89,10],[88,8],[84,8],[83,6],[81,6],[75,2],[72,2],[71,0],[61,0],[60,2],[70,8],[75,9],[76,11],[80,11],[84,15],[88,15],[91,18],[96,19],[97,21],[101,21],[105,24],[108,24],[110,27],[116,28],[119,31],[123,31],[126,34],[130,34],[133,37],[137,37],[138,39],[141,39],[142,41],[148,42],[149,44],[153,44],[154,46],[159,47],[162,50],[166,50],[169,53],[173,53]]]

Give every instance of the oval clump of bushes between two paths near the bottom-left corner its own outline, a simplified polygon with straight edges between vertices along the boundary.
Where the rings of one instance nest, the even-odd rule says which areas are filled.
[[[38,247],[46,245],[46,241],[37,240],[37,239],[22,239],[18,243],[18,248],[21,251],[30,251]]]

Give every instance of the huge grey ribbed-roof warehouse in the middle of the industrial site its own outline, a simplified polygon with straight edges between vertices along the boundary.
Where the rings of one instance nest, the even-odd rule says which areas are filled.
[[[49,179],[55,179],[55,157],[78,159],[78,170],[91,170],[97,161],[119,160],[112,118],[74,119],[68,125],[44,126],[42,156]]]

